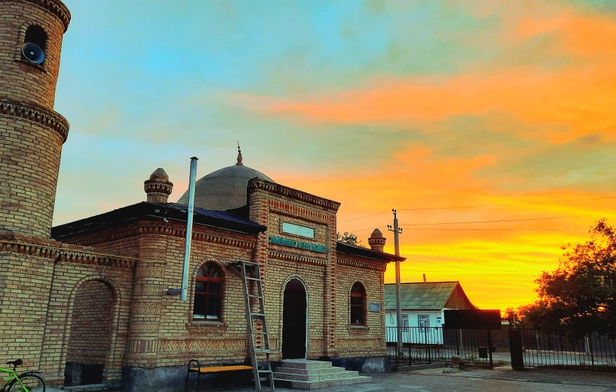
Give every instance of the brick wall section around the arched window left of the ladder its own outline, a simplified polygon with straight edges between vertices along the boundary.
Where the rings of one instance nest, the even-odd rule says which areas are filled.
[[[185,365],[190,357],[206,364],[238,363],[249,356],[246,343],[244,289],[239,276],[225,265],[252,260],[255,238],[232,232],[211,233],[213,242],[199,240],[211,230],[195,227],[188,279],[188,300],[163,295],[157,366]],[[184,239],[169,238],[163,287],[180,288],[184,262]],[[206,262],[216,263],[222,273],[221,320],[193,320],[194,286],[197,271]]]

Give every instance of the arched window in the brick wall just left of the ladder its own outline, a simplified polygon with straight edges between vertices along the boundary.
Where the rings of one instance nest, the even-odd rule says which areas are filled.
[[[205,263],[197,272],[195,282],[194,320],[220,320],[222,279],[216,263]]]

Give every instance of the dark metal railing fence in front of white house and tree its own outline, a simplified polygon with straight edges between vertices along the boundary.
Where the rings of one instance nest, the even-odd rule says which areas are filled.
[[[402,347],[398,352],[398,329],[386,328],[388,355],[398,365],[451,362],[452,358],[459,357],[465,363],[491,366],[493,360],[509,362],[511,359],[506,327],[491,331],[442,327],[401,329]],[[521,330],[521,337],[525,367],[616,371],[614,338],[593,333],[572,339],[532,329]]]

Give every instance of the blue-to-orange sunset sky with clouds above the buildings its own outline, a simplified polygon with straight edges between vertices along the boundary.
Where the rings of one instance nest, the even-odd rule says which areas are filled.
[[[402,281],[530,303],[561,247],[616,224],[616,2],[64,0],[54,224],[235,163],[341,202]],[[386,281],[393,282],[390,266]]]

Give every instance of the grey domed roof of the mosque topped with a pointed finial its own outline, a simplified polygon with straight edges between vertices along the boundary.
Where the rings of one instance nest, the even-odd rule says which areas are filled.
[[[275,182],[260,171],[244,166],[239,151],[235,165],[216,170],[195,183],[195,207],[217,211],[243,207],[248,204],[248,181],[255,177]],[[188,191],[178,204],[188,204]]]

